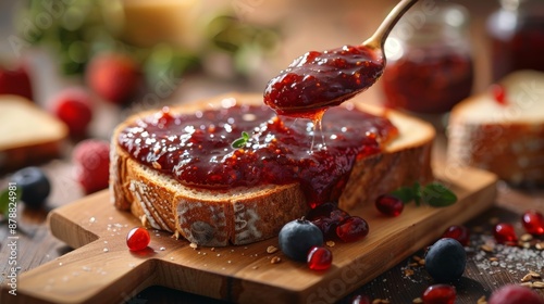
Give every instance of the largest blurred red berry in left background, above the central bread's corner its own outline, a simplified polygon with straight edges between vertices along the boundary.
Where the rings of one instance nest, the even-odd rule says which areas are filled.
[[[119,53],[101,53],[91,59],[85,72],[88,86],[100,98],[122,104],[134,97],[143,81],[138,64]]]

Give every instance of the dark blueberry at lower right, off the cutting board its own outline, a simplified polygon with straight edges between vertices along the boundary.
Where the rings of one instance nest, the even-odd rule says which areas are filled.
[[[426,252],[425,268],[436,282],[453,282],[465,273],[467,253],[459,241],[442,238]]]

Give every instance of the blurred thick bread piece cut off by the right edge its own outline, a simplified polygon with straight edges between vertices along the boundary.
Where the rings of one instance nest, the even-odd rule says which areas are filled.
[[[506,104],[485,92],[453,109],[448,162],[487,169],[515,185],[544,185],[544,74],[521,71],[500,85]]]

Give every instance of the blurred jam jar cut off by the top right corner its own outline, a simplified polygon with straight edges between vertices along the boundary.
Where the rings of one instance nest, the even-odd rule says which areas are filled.
[[[487,20],[493,81],[514,71],[544,71],[544,1],[499,3]]]

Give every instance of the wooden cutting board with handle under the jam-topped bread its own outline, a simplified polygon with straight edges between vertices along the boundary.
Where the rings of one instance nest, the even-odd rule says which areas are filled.
[[[368,220],[370,233],[331,248],[334,262],[326,271],[309,270],[281,252],[267,253],[268,246],[277,245],[276,239],[195,250],[187,241],[151,230],[148,250],[131,252],[125,237],[140,223],[116,211],[108,191],[102,191],[51,212],[52,233],[76,250],[22,274],[17,296],[10,300],[119,303],[159,284],[243,303],[332,303],[494,202],[496,178],[490,173],[442,166],[435,175],[457,193],[456,204],[443,208],[409,204],[395,218],[380,215],[373,205],[353,211]],[[282,262],[272,264],[274,256]]]

